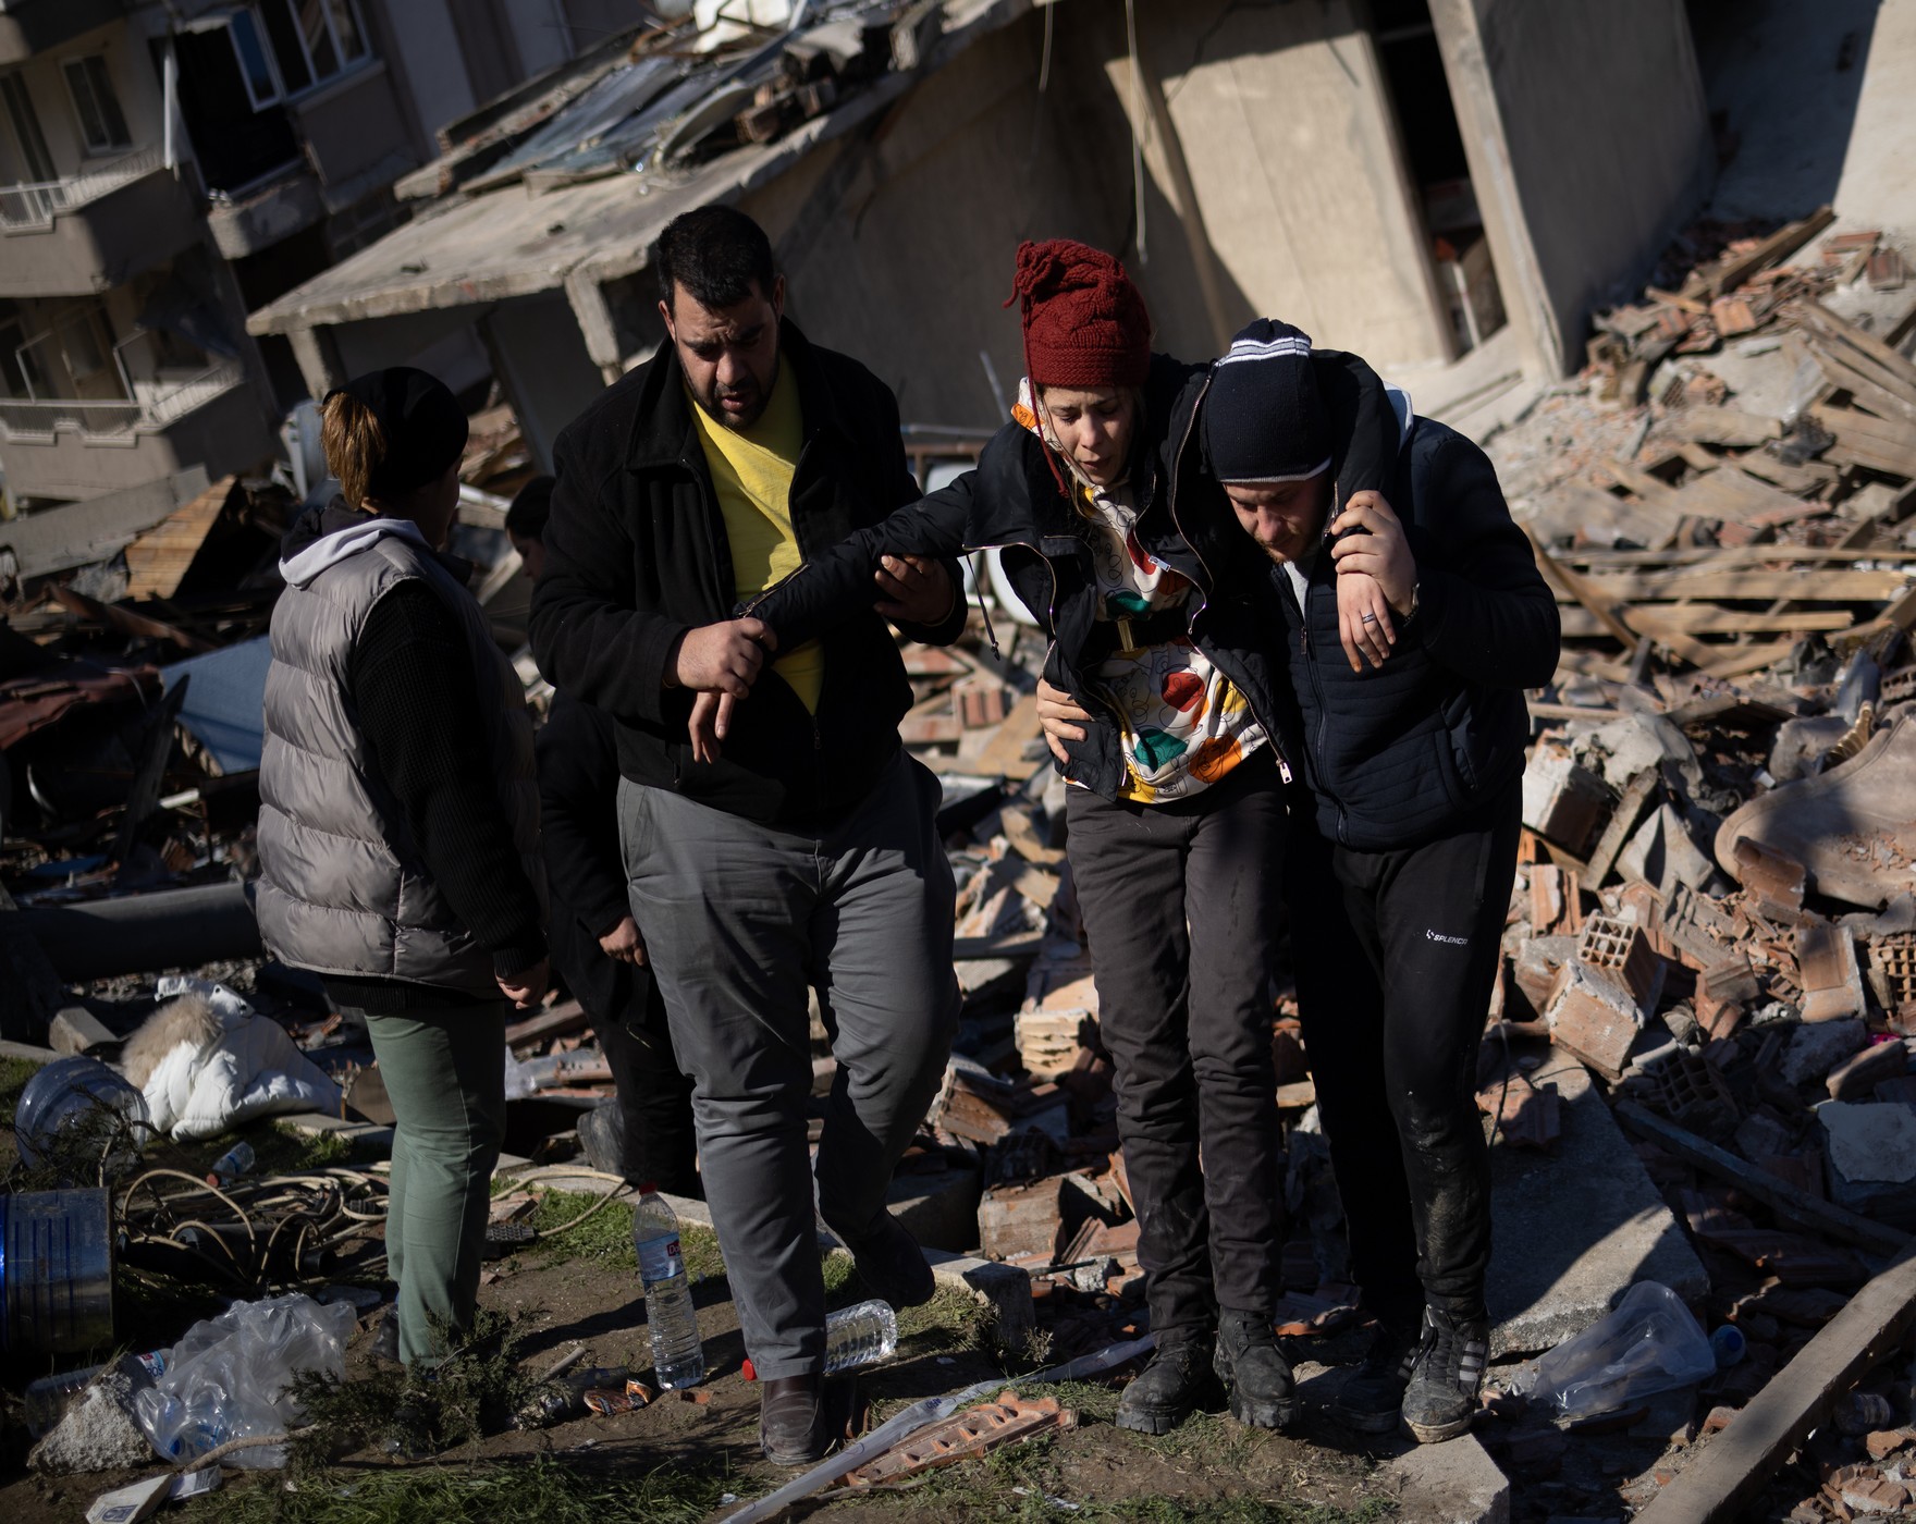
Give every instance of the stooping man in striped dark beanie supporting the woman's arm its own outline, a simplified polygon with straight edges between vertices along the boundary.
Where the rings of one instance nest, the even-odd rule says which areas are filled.
[[[1272,337],[1255,326],[1219,362],[1203,443],[1274,564],[1299,705],[1297,995],[1353,1273],[1380,1323],[1341,1409],[1429,1443],[1470,1428],[1489,1351],[1489,1150],[1471,1093],[1516,876],[1521,690],[1556,671],[1558,610],[1489,458],[1401,393],[1383,491],[1332,518],[1309,341]],[[1341,652],[1337,587],[1362,575],[1387,608],[1362,617],[1360,661]]]

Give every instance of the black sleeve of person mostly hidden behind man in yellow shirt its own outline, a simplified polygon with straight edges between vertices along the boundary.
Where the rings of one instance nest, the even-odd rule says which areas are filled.
[[[594,937],[628,916],[619,855],[619,744],[611,719],[569,694],[538,732],[538,830],[554,912]]]

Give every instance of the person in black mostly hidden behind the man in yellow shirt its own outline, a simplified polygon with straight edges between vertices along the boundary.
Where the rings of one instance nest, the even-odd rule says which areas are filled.
[[[506,535],[538,585],[552,477],[535,475],[506,510]],[[697,1196],[692,1079],[678,1072],[665,997],[632,920],[619,855],[619,742],[611,717],[554,692],[538,730],[538,815],[552,886],[552,966],[584,1006],[611,1066],[619,1173]]]

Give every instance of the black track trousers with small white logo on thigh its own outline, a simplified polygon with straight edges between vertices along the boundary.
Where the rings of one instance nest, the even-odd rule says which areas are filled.
[[[1498,943],[1517,870],[1517,784],[1470,828],[1403,851],[1326,842],[1309,796],[1286,888],[1305,1051],[1366,1305],[1481,1319],[1491,1156],[1477,1116]]]

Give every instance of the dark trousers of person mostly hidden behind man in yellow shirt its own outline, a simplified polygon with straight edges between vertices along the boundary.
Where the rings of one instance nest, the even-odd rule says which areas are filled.
[[[617,1010],[588,1010],[611,1068],[625,1139],[621,1173],[673,1196],[701,1196],[692,1129],[692,1075],[678,1072],[665,997],[650,968],[625,968]]]

